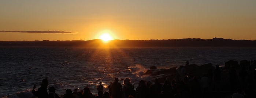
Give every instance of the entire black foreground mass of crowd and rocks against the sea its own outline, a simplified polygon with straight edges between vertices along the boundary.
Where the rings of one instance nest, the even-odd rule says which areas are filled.
[[[40,88],[33,88],[33,98],[256,98],[256,60],[239,64],[230,60],[224,67],[188,63],[178,69],[151,67],[143,75],[152,76],[152,82],[141,80],[135,89],[129,78],[124,79],[124,85],[116,78],[108,86],[109,91],[103,92],[100,84],[97,95],[90,93],[88,87],[67,89],[66,94],[58,95],[54,87],[47,87],[48,80],[44,79]]]

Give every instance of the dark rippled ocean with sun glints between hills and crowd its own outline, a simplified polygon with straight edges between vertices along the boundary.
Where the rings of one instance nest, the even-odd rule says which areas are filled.
[[[130,78],[137,87],[149,67],[171,68],[190,64],[224,66],[226,61],[254,60],[256,48],[64,48],[64,47],[0,47],[0,97],[28,98],[36,84],[48,78],[49,86],[63,95],[67,88],[107,86],[119,78]],[[36,90],[37,90],[36,88]]]

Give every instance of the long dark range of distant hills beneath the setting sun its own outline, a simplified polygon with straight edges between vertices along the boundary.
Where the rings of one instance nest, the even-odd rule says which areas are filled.
[[[162,39],[162,40],[119,40],[108,43],[100,39],[75,41],[0,41],[0,46],[18,47],[256,47],[256,40],[233,40],[223,38]]]

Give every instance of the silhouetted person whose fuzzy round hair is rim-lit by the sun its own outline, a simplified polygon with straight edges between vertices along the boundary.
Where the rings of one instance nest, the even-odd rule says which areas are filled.
[[[128,98],[129,95],[132,95],[133,97],[135,97],[136,93],[134,90],[134,86],[131,84],[131,80],[130,78],[125,78],[123,80],[123,94],[124,94],[124,98]]]

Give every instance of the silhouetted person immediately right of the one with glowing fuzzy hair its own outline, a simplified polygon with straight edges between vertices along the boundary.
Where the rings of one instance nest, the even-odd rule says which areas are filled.
[[[146,85],[144,80],[140,80],[139,86],[136,88],[136,98],[146,98]]]

